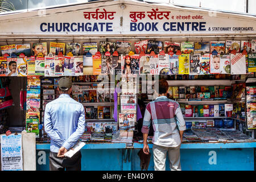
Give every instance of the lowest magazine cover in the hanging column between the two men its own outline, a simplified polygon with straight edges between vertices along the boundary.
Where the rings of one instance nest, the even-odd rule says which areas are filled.
[[[120,130],[127,130],[127,129],[134,130],[135,121],[136,121],[135,114],[125,114],[125,113],[118,114],[118,124],[119,124]]]

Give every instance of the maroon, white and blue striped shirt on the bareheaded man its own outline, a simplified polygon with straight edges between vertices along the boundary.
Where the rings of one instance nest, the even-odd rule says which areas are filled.
[[[160,96],[148,103],[143,118],[142,133],[148,133],[151,121],[154,129],[152,143],[164,147],[180,145],[179,130],[184,131],[186,125],[178,102]]]

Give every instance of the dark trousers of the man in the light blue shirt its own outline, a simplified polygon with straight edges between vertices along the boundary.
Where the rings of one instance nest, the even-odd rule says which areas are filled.
[[[78,151],[72,158],[58,158],[56,152],[49,154],[50,171],[81,171],[81,151]]]

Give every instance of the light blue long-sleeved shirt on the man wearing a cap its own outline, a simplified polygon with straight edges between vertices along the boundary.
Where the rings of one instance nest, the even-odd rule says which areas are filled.
[[[69,94],[61,94],[46,105],[44,130],[51,138],[52,152],[59,152],[61,146],[69,150],[84,133],[84,106],[73,100]]]

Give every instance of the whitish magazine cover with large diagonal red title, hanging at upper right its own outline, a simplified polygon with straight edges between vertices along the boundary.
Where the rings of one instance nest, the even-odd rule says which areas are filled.
[[[230,53],[230,72],[232,75],[246,74],[246,60],[242,53]]]

